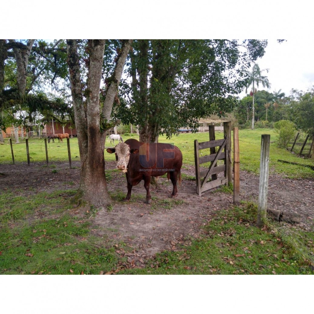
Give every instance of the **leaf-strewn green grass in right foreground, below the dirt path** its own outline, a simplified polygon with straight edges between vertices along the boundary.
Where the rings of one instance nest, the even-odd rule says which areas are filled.
[[[177,252],[161,252],[146,268],[123,274],[311,274],[313,234],[255,226],[254,204],[217,212],[205,236]],[[296,242],[298,245],[296,246]],[[312,259],[312,260],[311,260]]]

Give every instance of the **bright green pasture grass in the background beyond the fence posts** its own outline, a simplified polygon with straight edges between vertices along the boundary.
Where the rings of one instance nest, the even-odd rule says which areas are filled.
[[[270,134],[270,160],[269,170],[270,173],[279,173],[282,176],[289,178],[314,178],[314,171],[307,167],[299,165],[289,165],[278,161],[278,159],[297,162],[305,165],[314,165],[313,159],[299,158],[295,154],[292,154],[286,149],[280,149],[277,147],[278,134],[273,129],[245,129],[239,130],[239,144],[240,144],[240,169],[259,173],[260,164],[260,149],[261,149],[261,135]],[[138,135],[132,134],[132,136],[123,136],[123,140],[128,138],[138,139]],[[223,138],[223,132],[216,131],[216,139]],[[183,154],[183,164],[194,165],[194,140],[198,139],[198,142],[208,141],[208,133],[181,133],[178,136],[174,136],[171,139],[167,139],[165,136],[159,137],[161,143],[174,143],[181,149]],[[77,138],[70,139],[71,145],[71,158],[72,160],[79,160],[79,150]],[[106,147],[113,146],[106,140]],[[14,159],[16,162],[26,162],[26,145],[25,143],[13,145]],[[233,147],[232,147],[233,149]],[[29,151],[31,162],[46,161],[45,145],[43,140],[30,139]],[[208,154],[208,149],[204,149],[201,153]],[[48,145],[49,162],[53,161],[67,161],[68,150],[67,144],[64,143],[50,143]],[[108,154],[105,150],[105,160],[114,161],[115,155]],[[11,163],[11,148],[7,139],[5,139],[5,145],[0,146],[0,164]],[[206,166],[204,164],[203,166]],[[184,168],[184,166],[183,166]],[[190,178],[191,179],[191,178]]]

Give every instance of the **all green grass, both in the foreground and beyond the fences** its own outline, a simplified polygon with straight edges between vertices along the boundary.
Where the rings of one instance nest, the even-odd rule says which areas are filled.
[[[300,159],[277,148],[277,133],[271,129],[239,131],[241,170],[258,174],[261,134],[271,135],[270,172],[294,179],[314,178],[310,168],[278,162],[282,159],[314,165],[311,159]],[[216,139],[222,137],[222,132],[216,132]],[[127,138],[131,136],[123,140]],[[207,141],[208,133],[183,133],[172,139],[160,137],[160,142],[174,143],[181,149],[184,167],[194,164],[194,139]],[[77,138],[71,138],[70,145],[72,160],[79,160]],[[106,148],[109,146],[113,145],[106,141]],[[46,161],[43,140],[30,139],[29,147],[31,162]],[[15,144],[13,149],[15,162],[26,162],[25,143]],[[66,141],[51,142],[48,155],[52,165],[54,161],[66,162]],[[105,151],[105,160],[115,160],[114,154]],[[0,173],[1,165],[11,162],[11,148],[6,139],[5,145],[0,146]],[[256,204],[245,202],[219,211],[204,222],[204,236],[191,239],[190,246],[157,253],[145,267],[133,267],[116,252],[130,250],[125,243],[113,245],[108,236],[102,239],[105,245],[100,247],[100,239],[95,236],[97,227],[91,218],[97,214],[96,208],[73,214],[75,193],[73,189],[36,192],[11,187],[0,191],[0,274],[312,273],[313,233],[291,228],[287,234],[273,222],[261,230],[254,225]],[[171,206],[169,210],[175,210],[176,204]],[[45,213],[44,218],[35,215],[38,208]],[[240,220],[245,223],[238,224]]]

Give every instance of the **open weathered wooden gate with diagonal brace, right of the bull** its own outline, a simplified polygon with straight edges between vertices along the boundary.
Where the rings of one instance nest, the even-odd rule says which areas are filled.
[[[216,146],[219,146],[217,153],[199,156],[200,150]],[[202,196],[202,192],[228,183],[229,151],[226,149],[227,146],[227,138],[201,143],[198,143],[197,139],[194,140],[196,188],[199,196]],[[224,160],[224,164],[217,166],[218,160]],[[200,165],[208,162],[211,162],[209,168],[200,171]],[[217,178],[216,174],[222,171],[224,171],[224,177]],[[207,182],[210,176],[215,180]]]

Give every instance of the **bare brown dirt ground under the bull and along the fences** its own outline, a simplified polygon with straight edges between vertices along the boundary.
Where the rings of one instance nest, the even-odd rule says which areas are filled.
[[[106,170],[115,169],[115,162],[106,162]],[[76,189],[79,183],[79,162],[68,163],[26,163],[0,165],[0,191],[3,189],[53,191],[56,189]],[[184,166],[182,173],[194,176],[193,166]],[[108,190],[117,195],[126,195],[125,175],[111,171],[108,177]],[[241,171],[241,200],[258,200],[258,176]],[[111,211],[101,210],[94,219],[98,228],[93,229],[99,236],[99,245],[111,241],[120,252],[123,241],[131,249],[127,250],[130,262],[138,266],[163,250],[176,250],[181,245],[189,245],[192,238],[202,235],[202,226],[212,219],[215,211],[232,206],[231,194],[208,191],[202,197],[196,194],[195,181],[182,179],[178,196],[170,198],[172,184],[160,178],[158,188],[151,189],[153,201],[145,204],[143,186],[133,187],[130,202],[113,201]],[[122,193],[122,194],[121,194]],[[301,215],[298,225],[306,231],[314,231],[314,180],[291,180],[279,175],[269,176],[268,208],[292,211]],[[281,223],[284,224],[284,223]],[[102,243],[102,241],[104,243]],[[135,262],[134,262],[135,261]]]

